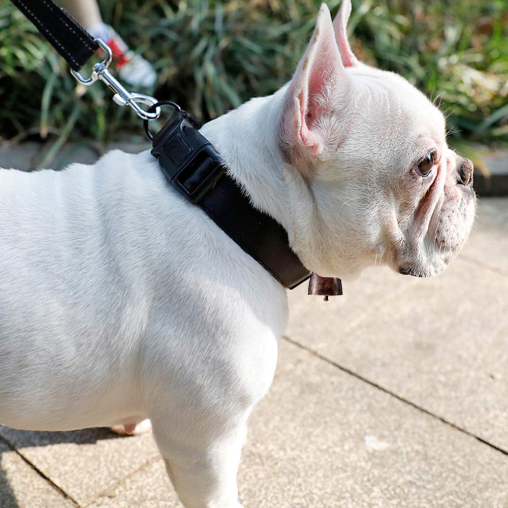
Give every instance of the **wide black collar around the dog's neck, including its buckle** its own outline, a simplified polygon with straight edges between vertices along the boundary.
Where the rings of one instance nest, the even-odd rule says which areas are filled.
[[[150,109],[163,104],[157,103]],[[309,278],[310,272],[289,246],[287,232],[250,204],[245,190],[226,173],[224,161],[196,126],[189,115],[175,109],[153,138],[147,131],[152,138],[151,154],[180,194],[200,206],[282,285],[295,288]]]

